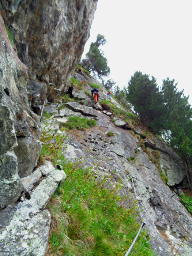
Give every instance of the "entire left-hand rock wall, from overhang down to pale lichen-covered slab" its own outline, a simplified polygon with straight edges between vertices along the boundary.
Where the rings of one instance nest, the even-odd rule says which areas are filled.
[[[0,1],[1,256],[46,254],[45,207],[64,172],[49,164],[34,171],[42,147],[36,114],[68,90],[96,7],[97,0]]]

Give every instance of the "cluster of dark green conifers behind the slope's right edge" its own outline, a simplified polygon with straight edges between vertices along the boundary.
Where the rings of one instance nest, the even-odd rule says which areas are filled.
[[[148,127],[172,146],[181,157],[192,191],[192,108],[174,79],[163,80],[160,89],[156,79],[142,72],[135,72],[127,88],[113,86],[113,94],[126,106],[129,103],[136,115]]]

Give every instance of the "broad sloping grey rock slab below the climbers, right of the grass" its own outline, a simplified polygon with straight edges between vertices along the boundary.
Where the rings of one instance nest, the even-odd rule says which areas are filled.
[[[90,88],[87,86],[86,90]],[[100,94],[101,99],[105,98],[105,94],[106,91],[103,89]],[[87,98],[89,98],[88,95]],[[178,253],[182,256],[191,256],[191,215],[181,204],[178,196],[174,195],[163,182],[157,165],[150,160],[150,154],[158,152],[156,157],[170,186],[184,182],[185,175],[181,159],[156,135],[149,138],[142,137],[145,145],[142,149],[139,137],[136,136],[138,134],[142,136],[141,127],[134,127],[130,131],[131,128],[126,127],[126,122],[114,116],[113,113],[109,117],[102,110],[91,110],[93,106],[90,100],[84,102],[86,105],[76,102],[67,103],[65,109],[57,111],[57,117],[52,116],[50,125],[54,124],[54,129],[58,130],[60,126],[56,124],[63,122],[63,118],[67,122],[69,116],[84,116],[97,121],[97,127],[89,131],[78,131],[79,136],[71,133],[63,150],[66,159],[76,162],[80,158],[81,161],[84,160],[83,166],[86,167],[94,167],[99,159],[97,169],[101,175],[107,172],[113,173],[116,170],[113,181],[116,182],[121,178],[125,185],[122,193],[129,191],[135,198],[132,177],[139,206],[142,209],[142,219],[146,223],[148,235],[151,237],[151,246],[157,255],[173,255],[184,236],[187,235],[188,241],[181,246]],[[49,107],[49,112],[55,113],[55,108],[55,106]],[[113,136],[109,137],[108,132],[113,132]]]

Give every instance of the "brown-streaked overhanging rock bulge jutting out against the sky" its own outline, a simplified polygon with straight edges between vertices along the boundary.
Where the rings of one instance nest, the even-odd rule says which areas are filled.
[[[29,76],[46,83],[49,100],[65,91],[79,63],[97,0],[1,1],[19,59]]]

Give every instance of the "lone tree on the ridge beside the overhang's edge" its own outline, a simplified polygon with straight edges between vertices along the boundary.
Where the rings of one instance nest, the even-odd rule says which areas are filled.
[[[110,74],[110,68],[107,65],[107,59],[99,46],[106,43],[105,37],[98,34],[96,42],[90,44],[89,52],[86,53],[86,59],[80,62],[80,65],[93,73],[94,77],[102,79],[103,76]]]

